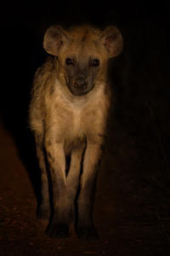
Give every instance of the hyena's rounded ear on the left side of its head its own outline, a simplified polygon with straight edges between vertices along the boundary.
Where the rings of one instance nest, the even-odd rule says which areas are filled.
[[[61,45],[67,38],[67,32],[61,26],[50,26],[43,38],[43,48],[50,55],[58,55]]]

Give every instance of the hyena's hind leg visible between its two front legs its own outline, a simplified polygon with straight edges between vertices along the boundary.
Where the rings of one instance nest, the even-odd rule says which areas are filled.
[[[66,189],[70,199],[70,224],[75,223],[75,198],[80,178],[80,169],[82,162],[82,153],[85,145],[73,148],[71,152],[71,166],[66,177]]]

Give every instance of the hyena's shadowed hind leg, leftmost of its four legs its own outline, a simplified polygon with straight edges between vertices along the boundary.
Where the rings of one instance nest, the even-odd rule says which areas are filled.
[[[50,218],[50,203],[48,192],[48,173],[44,155],[43,137],[36,136],[37,160],[41,171],[41,204],[37,210],[37,218],[49,219]]]

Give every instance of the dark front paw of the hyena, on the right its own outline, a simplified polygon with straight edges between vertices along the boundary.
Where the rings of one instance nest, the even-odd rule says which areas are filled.
[[[77,228],[77,236],[79,239],[96,240],[99,234],[94,226],[81,226]]]

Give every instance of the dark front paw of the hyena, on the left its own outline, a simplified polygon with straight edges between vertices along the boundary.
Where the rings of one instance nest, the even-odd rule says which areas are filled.
[[[49,237],[64,238],[69,236],[69,226],[67,224],[49,224],[46,230]]]

